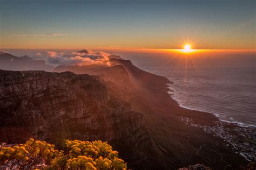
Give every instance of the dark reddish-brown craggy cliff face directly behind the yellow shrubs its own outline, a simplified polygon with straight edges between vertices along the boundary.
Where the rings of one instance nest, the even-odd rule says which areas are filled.
[[[127,145],[134,147],[127,157],[149,143],[142,114],[112,97],[97,76],[0,70],[0,141],[31,137],[56,144],[107,140],[121,155]]]

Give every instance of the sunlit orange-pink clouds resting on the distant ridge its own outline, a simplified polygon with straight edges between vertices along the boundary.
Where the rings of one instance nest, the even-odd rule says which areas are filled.
[[[110,65],[109,53],[93,52],[89,49],[71,53],[48,51],[47,55],[47,62],[53,65]]]

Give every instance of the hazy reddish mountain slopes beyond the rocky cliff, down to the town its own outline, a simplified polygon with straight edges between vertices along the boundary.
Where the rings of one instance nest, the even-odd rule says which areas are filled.
[[[177,169],[204,164],[213,169],[224,169],[225,166],[228,169],[231,165],[238,168],[246,164],[244,158],[227,148],[219,138],[204,132],[201,128],[180,121],[180,116],[183,116],[193,118],[194,122],[200,124],[212,125],[218,121],[218,118],[206,112],[179,107],[178,103],[167,94],[166,83],[170,83],[168,79],[147,73],[132,65],[129,60],[111,59],[111,63],[115,66],[97,67],[97,69],[67,66],[61,67],[62,69],[57,67],[58,69],[55,70],[60,72],[68,69],[75,73],[95,74],[105,80],[106,77],[111,77],[106,80],[107,84],[113,84],[112,88],[107,86],[111,91],[110,94],[113,95],[114,91],[116,95],[113,96],[119,96],[124,101],[130,102],[133,110],[144,115],[147,129],[154,141],[154,148],[149,150],[144,164],[137,164],[134,167]],[[114,76],[116,74],[118,76]],[[121,85],[120,82],[126,83]],[[126,86],[127,84],[129,86]],[[126,88],[123,88],[125,86]],[[135,93],[128,93],[130,91]]]

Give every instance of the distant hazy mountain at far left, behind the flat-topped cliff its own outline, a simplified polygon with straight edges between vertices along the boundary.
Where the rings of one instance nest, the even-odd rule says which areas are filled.
[[[33,60],[29,56],[15,56],[9,53],[0,53],[0,69],[5,70],[46,70],[54,67],[47,65],[44,60]]]

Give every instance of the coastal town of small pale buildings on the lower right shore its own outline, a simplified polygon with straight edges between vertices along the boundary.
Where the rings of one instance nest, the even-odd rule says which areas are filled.
[[[214,121],[214,125],[194,123],[193,119],[181,117],[179,119],[187,125],[202,128],[205,132],[219,137],[235,153],[240,154],[248,161],[256,159],[256,128],[253,126],[238,126],[236,124]]]

